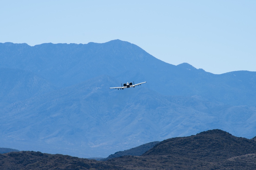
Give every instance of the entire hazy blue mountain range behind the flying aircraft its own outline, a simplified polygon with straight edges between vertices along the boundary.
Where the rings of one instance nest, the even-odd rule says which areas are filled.
[[[0,59],[0,147],[106,158],[209,129],[256,136],[256,72],[174,66],[120,40],[0,43]],[[147,83],[109,89],[133,81]]]

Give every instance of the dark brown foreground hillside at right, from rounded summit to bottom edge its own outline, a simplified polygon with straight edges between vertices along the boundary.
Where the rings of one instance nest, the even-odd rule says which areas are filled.
[[[164,140],[141,156],[106,162],[127,169],[255,169],[256,142],[214,129]]]

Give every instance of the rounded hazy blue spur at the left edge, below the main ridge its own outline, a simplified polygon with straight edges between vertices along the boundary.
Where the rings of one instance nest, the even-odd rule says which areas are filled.
[[[0,107],[53,91],[57,87],[30,71],[0,68]]]

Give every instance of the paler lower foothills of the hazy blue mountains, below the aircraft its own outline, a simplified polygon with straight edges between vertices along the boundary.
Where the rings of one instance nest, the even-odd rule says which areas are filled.
[[[91,158],[214,127],[231,126],[231,132],[252,135],[244,129],[256,123],[253,107],[226,106],[198,96],[163,96],[146,84],[109,89],[113,82],[103,75],[5,107],[0,124],[7,128],[0,131],[1,142],[12,142],[19,150]],[[237,121],[247,123],[237,127]]]

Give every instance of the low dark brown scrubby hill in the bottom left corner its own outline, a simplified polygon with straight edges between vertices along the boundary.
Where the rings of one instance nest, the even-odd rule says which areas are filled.
[[[34,151],[21,151],[0,154],[0,168],[3,170],[82,170],[82,169],[125,169],[118,165],[104,162],[72,157],[61,154],[47,154]]]

